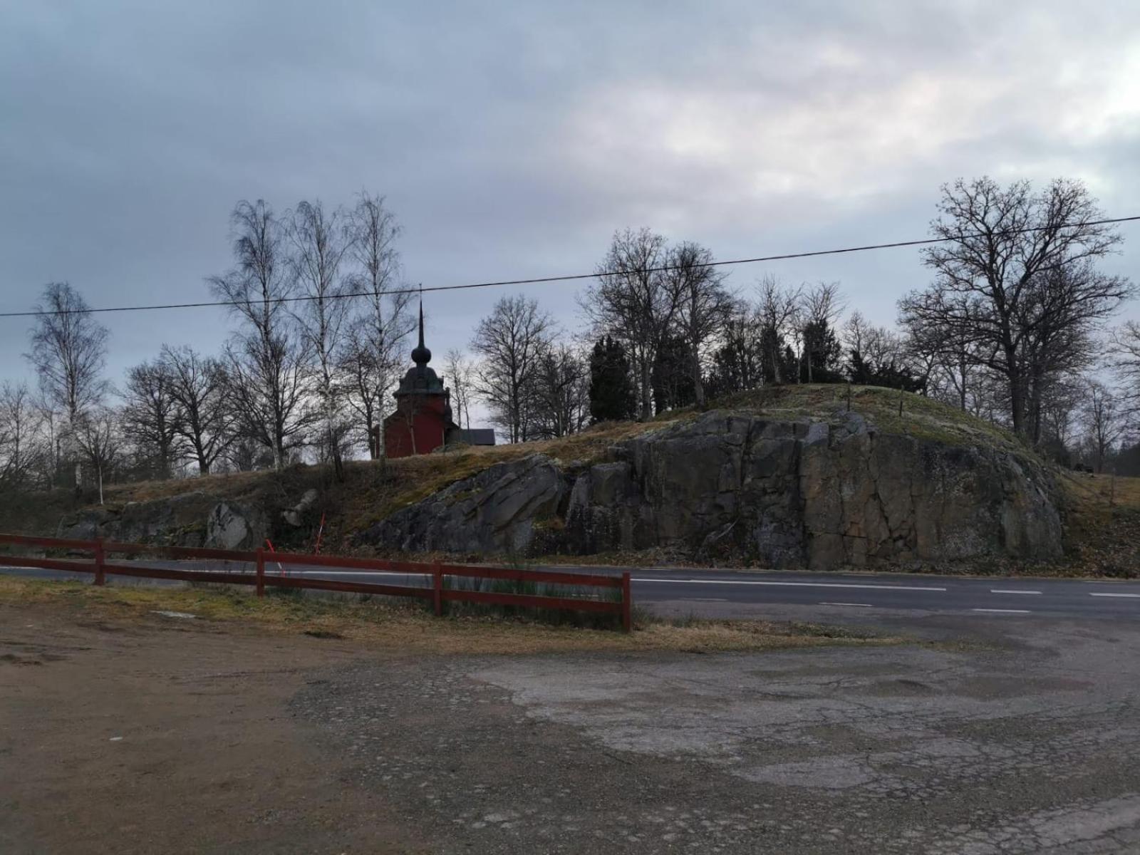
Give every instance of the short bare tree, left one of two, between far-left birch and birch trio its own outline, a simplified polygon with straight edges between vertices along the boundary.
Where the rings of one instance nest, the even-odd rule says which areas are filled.
[[[153,462],[152,471],[158,479],[170,478],[180,450],[182,410],[166,365],[158,360],[129,368],[123,401],[123,434]]]

